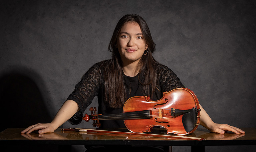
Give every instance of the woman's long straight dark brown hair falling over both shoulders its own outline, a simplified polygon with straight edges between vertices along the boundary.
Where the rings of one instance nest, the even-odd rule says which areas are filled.
[[[155,65],[157,61],[152,56],[152,53],[155,52],[156,44],[151,37],[148,24],[139,15],[125,15],[118,21],[108,45],[108,50],[112,52],[112,58],[109,61],[109,71],[104,78],[104,92],[105,100],[112,108],[121,108],[126,101],[126,91],[122,72],[122,61],[120,58],[120,54],[118,53],[117,38],[119,36],[122,26],[127,22],[137,22],[140,25],[144,41],[148,45],[148,53],[142,56],[136,68],[136,70],[139,71],[138,79],[143,86],[142,89],[144,96],[152,96],[153,92],[156,89]]]

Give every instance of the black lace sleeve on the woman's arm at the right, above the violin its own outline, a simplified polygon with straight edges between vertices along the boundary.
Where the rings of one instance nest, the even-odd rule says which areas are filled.
[[[162,92],[184,87],[180,78],[178,78],[177,75],[167,66],[160,65],[158,70]]]

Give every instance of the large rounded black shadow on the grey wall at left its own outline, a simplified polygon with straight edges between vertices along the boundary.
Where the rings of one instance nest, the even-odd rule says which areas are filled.
[[[25,72],[13,70],[0,76],[0,131],[6,128],[26,128],[52,120],[37,83],[22,73]]]

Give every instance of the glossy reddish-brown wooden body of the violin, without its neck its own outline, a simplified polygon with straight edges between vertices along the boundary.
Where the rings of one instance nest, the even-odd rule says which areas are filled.
[[[189,117],[185,119],[189,119],[192,122],[184,119],[185,114],[174,117],[171,116],[177,109],[190,110],[192,108],[195,108],[196,114],[193,110],[185,113]],[[125,119],[124,124],[127,129],[132,132],[151,132],[154,126],[160,126],[164,127],[167,130],[167,133],[185,135],[196,130],[200,122],[199,109],[199,102],[196,95],[187,88],[178,88],[169,92],[164,92],[163,98],[157,101],[152,101],[150,100],[150,97],[147,96],[135,96],[129,98],[125,102],[123,113],[150,110],[152,119]],[[192,123],[187,130],[185,130],[184,127],[187,125],[185,123]]]

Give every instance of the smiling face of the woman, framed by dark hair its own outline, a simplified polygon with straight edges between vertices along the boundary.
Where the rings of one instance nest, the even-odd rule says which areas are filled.
[[[125,23],[117,38],[117,48],[124,64],[139,62],[148,48],[137,22]]]

